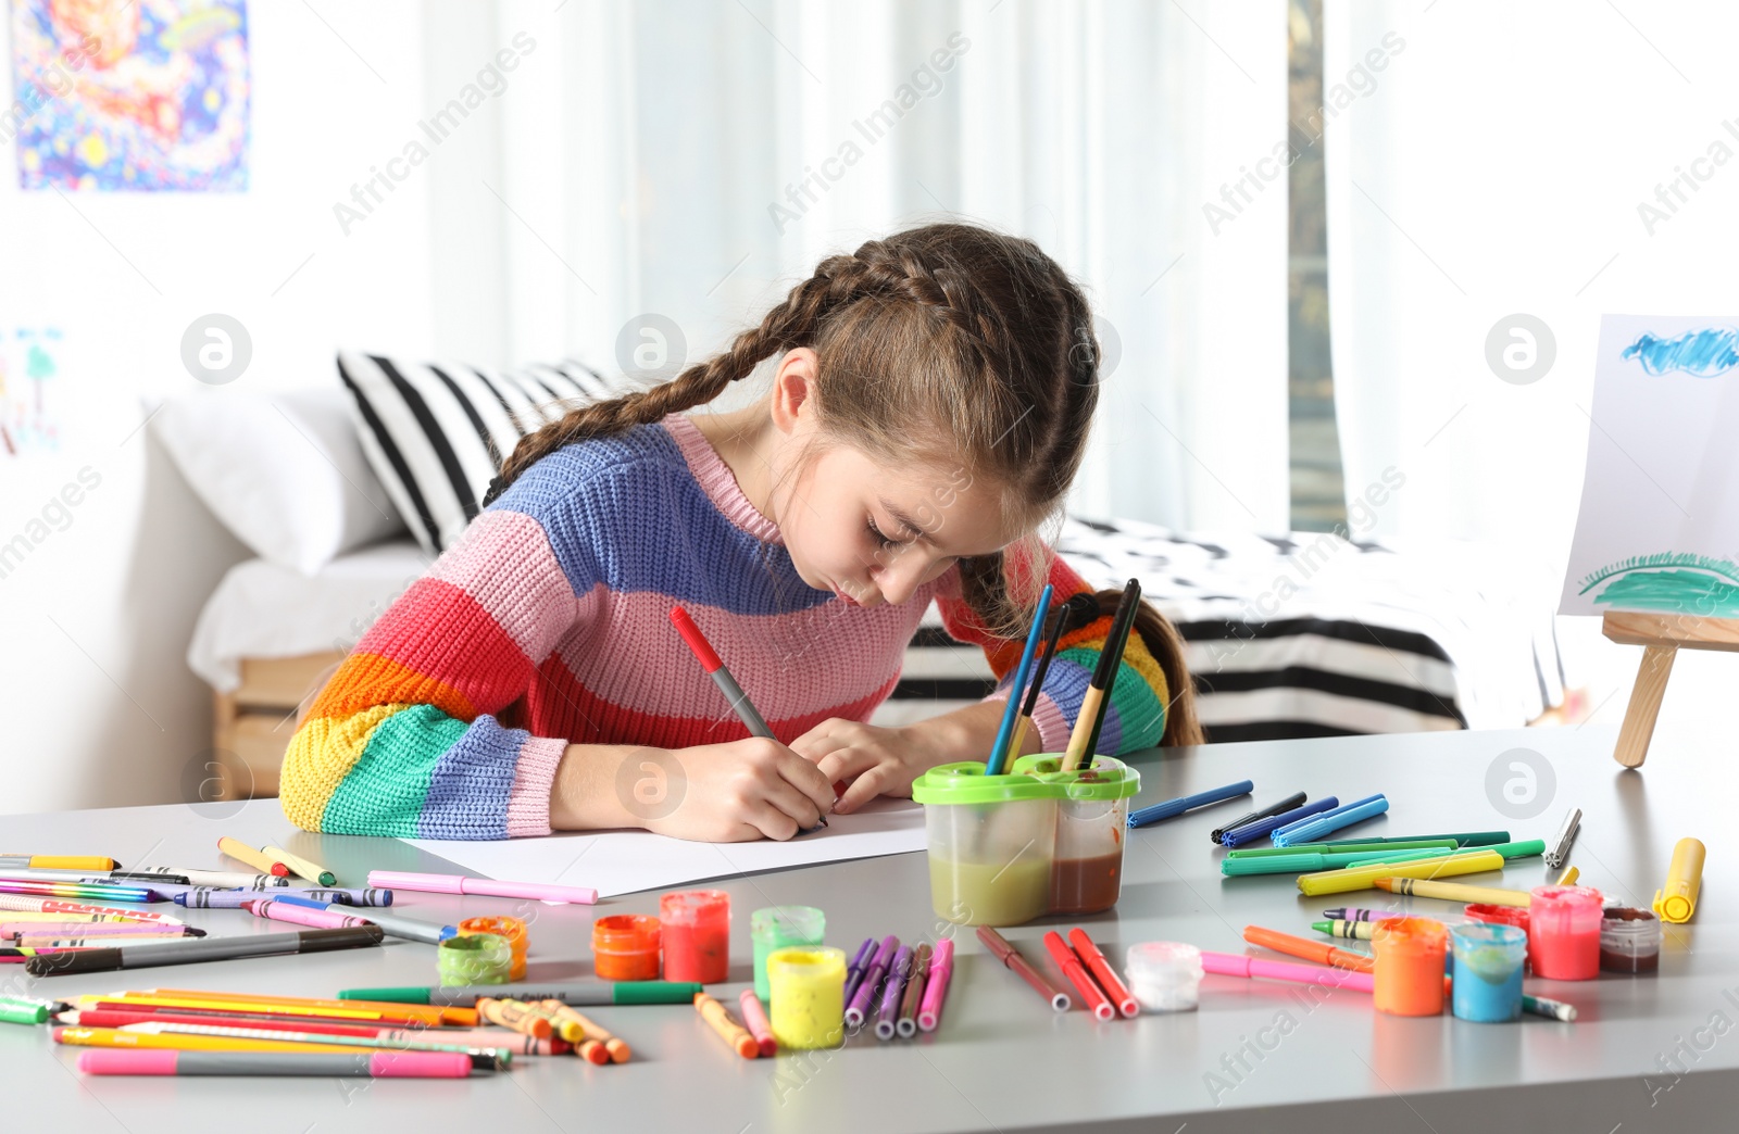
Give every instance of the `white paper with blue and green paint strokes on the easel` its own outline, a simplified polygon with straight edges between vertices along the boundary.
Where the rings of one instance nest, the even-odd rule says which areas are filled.
[[[1558,612],[1739,617],[1739,317],[1603,317],[1591,417]]]

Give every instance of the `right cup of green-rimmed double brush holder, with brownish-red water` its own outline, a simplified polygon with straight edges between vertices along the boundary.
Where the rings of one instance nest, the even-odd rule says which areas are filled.
[[[1129,800],[1141,791],[1141,772],[1111,757],[1094,757],[1090,767],[1073,772],[1057,770],[1061,764],[1061,755],[1021,757],[1009,770],[1063,791],[1049,911],[1099,913],[1115,906],[1123,889]]]

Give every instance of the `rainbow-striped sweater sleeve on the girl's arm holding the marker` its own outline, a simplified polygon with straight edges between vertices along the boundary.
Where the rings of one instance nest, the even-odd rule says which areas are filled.
[[[527,692],[591,584],[525,499],[510,490],[480,513],[320,690],[283,757],[292,823],[400,838],[550,833],[567,741],[497,715]]]

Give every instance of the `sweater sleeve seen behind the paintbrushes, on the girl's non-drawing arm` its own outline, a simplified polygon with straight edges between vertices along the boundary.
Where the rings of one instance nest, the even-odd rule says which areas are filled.
[[[1092,588],[1069,567],[1061,555],[1052,557],[1047,581],[1052,586],[1052,609],[1068,602],[1073,595]],[[984,649],[991,671],[996,675],[996,690],[986,701],[1003,701],[1014,684],[1014,670],[1021,663],[1024,640],[996,638],[986,633],[983,621],[960,597],[960,570],[951,569],[939,579],[936,605],[943,616],[943,626],[956,642],[970,642]],[[1111,616],[1103,614],[1092,623],[1071,630],[1057,642],[1057,654],[1045,673],[1045,685],[1033,706],[1033,727],[1038,729],[1040,751],[1063,751],[1069,744],[1069,732],[1080,717],[1082,701],[1087,697],[1087,684],[1099,664],[1099,654],[1111,633]],[[1043,649],[1043,644],[1040,644]],[[1036,657],[1035,657],[1035,666]],[[1170,694],[1165,684],[1165,671],[1148,652],[1139,633],[1130,633],[1123,647],[1116,678],[1111,685],[1109,704],[1104,711],[1104,725],[1099,729],[1097,753],[1122,757],[1143,748],[1153,748],[1165,734],[1165,708]]]

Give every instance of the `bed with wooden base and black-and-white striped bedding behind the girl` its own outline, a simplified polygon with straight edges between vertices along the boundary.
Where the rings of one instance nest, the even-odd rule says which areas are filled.
[[[1539,581],[1473,546],[1080,518],[1057,546],[1094,586],[1139,577],[1179,628],[1210,743],[1520,727],[1565,697]],[[393,539],[313,574],[254,558],[224,576],[188,664],[214,690],[226,798],[277,793],[299,708],[430,562]],[[932,607],[871,720],[934,717],[991,685],[983,652],[948,638]]]

